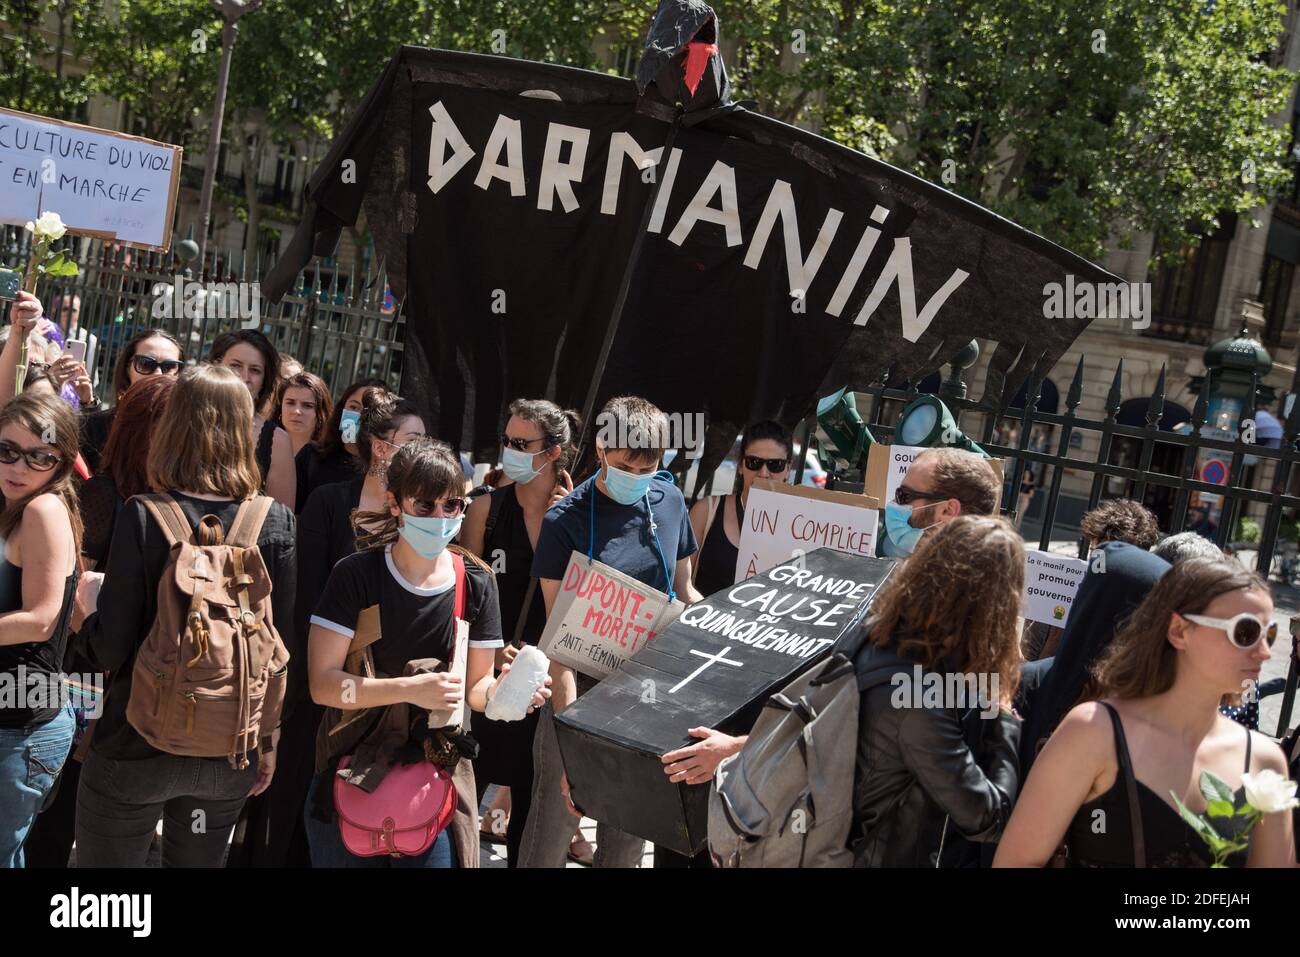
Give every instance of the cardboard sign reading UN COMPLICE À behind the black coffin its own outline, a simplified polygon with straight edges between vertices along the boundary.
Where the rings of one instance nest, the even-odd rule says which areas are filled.
[[[745,505],[736,581],[820,547],[875,555],[878,508],[880,502],[867,495],[755,478]]]

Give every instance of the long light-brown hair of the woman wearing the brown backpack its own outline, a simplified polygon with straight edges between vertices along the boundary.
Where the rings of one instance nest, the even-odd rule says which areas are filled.
[[[176,384],[150,443],[150,486],[226,498],[261,488],[254,458],[252,397],[225,365],[191,365]]]

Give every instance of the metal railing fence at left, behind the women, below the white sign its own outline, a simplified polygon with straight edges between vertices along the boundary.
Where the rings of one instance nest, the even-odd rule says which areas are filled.
[[[42,280],[36,295],[65,335],[96,337],[90,372],[105,402],[116,398],[108,391],[122,345],[151,328],[172,333],[190,360],[200,360],[220,333],[256,326],[334,394],[364,377],[400,385],[404,322],[399,304],[385,304],[382,269],[359,276],[317,263],[270,304],[260,296],[260,281],[272,263],[248,263],[240,252],[209,250],[199,264],[183,257],[183,243],[173,243],[170,254],[86,238],[65,244],[79,274]],[[21,270],[29,252],[30,233],[0,229],[0,263]],[[238,308],[250,303],[256,303],[256,322]]]

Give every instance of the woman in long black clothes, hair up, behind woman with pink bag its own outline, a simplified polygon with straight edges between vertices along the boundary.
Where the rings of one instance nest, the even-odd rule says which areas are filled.
[[[230,848],[230,866],[311,866],[302,810],[312,781],[312,742],[324,709],[312,702],[307,687],[309,619],[328,589],[330,571],[356,551],[352,514],[382,512],[389,462],[400,446],[424,436],[415,406],[382,386],[367,389],[360,404],[356,445],[364,475],[316,489],[298,520],[294,627],[283,632],[289,687],[281,720],[282,759],[266,793],[244,809],[240,837]]]

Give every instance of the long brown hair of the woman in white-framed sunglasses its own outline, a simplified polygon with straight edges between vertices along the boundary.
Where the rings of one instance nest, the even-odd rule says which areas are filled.
[[[1083,700],[1145,698],[1174,687],[1178,649],[1169,642],[1169,620],[1197,615],[1219,596],[1238,589],[1269,586],[1236,562],[1190,558],[1165,572],[1147,598],[1115,633],[1092,668]]]

